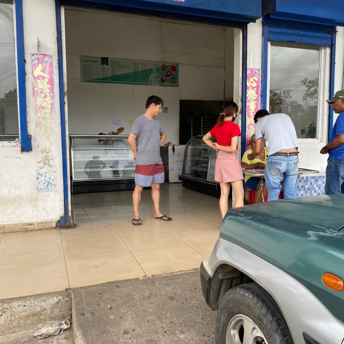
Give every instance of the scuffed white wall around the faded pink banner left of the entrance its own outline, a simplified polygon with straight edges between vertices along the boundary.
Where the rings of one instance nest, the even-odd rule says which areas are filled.
[[[33,11],[33,9],[35,9]],[[20,152],[17,144],[0,144],[0,224],[57,221],[63,215],[61,126],[58,94],[55,1],[23,1],[26,100],[31,152]],[[39,18],[39,20],[38,20]],[[36,191],[37,145],[35,113],[31,88],[30,53],[37,53],[37,37],[46,43],[46,54],[53,55],[55,115],[51,122],[50,149],[56,163],[56,192]],[[5,146],[5,147],[3,147]],[[7,146],[7,147],[6,147]],[[1,232],[1,229],[0,229]]]

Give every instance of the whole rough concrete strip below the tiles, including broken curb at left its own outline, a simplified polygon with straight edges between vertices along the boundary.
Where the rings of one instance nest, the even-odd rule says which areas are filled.
[[[72,312],[73,326],[36,339]],[[214,343],[216,313],[203,300],[199,271],[107,282],[0,300],[0,343]]]

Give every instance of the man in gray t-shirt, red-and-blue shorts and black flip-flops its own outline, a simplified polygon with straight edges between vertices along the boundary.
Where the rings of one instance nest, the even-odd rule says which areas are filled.
[[[135,190],[132,195],[134,218],[132,224],[142,224],[139,216],[139,204],[143,187],[151,186],[154,205],[154,218],[171,221],[160,213],[160,184],[165,180],[164,166],[160,157],[160,146],[166,139],[165,130],[157,117],[163,101],[158,96],[150,96],[146,102],[146,111],[133,123],[128,138],[129,147],[134,153]]]

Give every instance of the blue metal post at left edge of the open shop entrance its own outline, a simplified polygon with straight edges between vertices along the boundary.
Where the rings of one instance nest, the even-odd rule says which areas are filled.
[[[68,210],[68,173],[67,173],[67,144],[66,144],[66,114],[63,83],[63,54],[62,54],[62,28],[61,28],[61,1],[55,1],[56,30],[57,30],[57,56],[58,56],[58,88],[60,93],[61,117],[61,144],[62,144],[62,174],[63,174],[63,209],[64,216],[60,217],[60,226],[69,226]]]

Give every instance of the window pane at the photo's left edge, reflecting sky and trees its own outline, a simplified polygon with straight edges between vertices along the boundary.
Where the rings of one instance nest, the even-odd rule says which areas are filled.
[[[18,138],[13,4],[0,0],[0,141]]]

